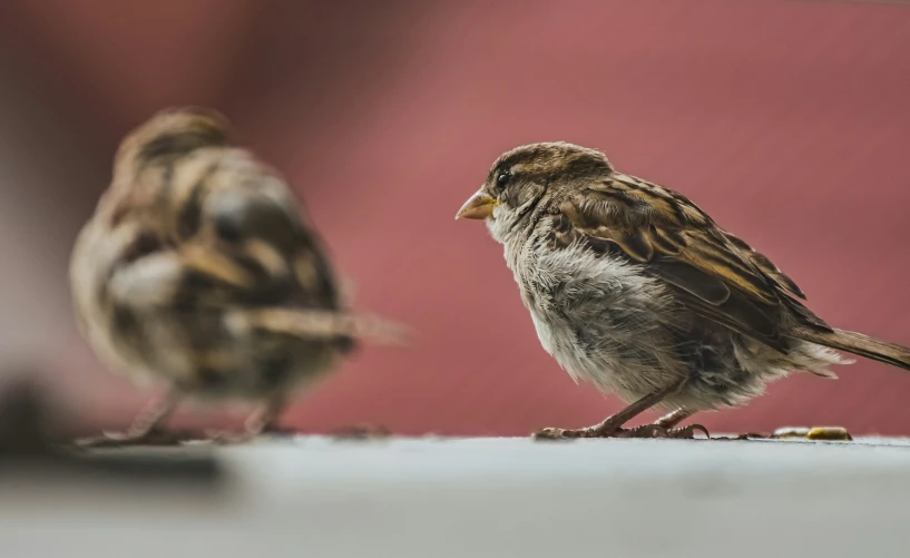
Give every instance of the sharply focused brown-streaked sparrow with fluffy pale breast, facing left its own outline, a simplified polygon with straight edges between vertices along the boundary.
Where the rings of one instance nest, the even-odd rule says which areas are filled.
[[[683,195],[568,143],[501,155],[456,218],[503,245],[544,349],[628,407],[538,438],[678,437],[699,411],[738,407],[792,371],[836,378],[836,351],[910,370],[910,349],[828,325],[771,260]],[[624,425],[646,409],[668,414]]]

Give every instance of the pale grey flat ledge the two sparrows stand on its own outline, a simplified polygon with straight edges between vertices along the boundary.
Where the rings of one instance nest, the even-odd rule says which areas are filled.
[[[214,454],[215,490],[4,473],[0,556],[910,552],[908,440],[300,438]]]

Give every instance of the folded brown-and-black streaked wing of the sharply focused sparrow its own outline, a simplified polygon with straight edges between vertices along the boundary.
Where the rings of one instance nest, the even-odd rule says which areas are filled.
[[[556,246],[622,254],[666,282],[692,311],[784,351],[781,316],[826,324],[771,261],[717,227],[684,196],[628,175],[591,183],[559,206]]]

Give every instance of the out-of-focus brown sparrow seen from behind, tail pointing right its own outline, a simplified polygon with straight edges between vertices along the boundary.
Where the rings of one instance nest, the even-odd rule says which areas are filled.
[[[213,109],[153,115],[120,143],[76,239],[79,331],[115,372],[166,385],[102,437],[112,443],[170,443],[164,423],[183,401],[252,403],[242,437],[281,432],[293,395],[362,339],[398,339],[395,324],[346,309],[302,199],[232,135]]]

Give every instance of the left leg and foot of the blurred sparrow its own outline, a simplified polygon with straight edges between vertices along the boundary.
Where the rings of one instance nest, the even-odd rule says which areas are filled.
[[[177,390],[148,404],[126,432],[105,432],[100,437],[77,441],[82,448],[112,448],[124,446],[176,446],[193,438],[188,432],[168,430],[162,424],[172,415],[180,403],[182,395]]]

